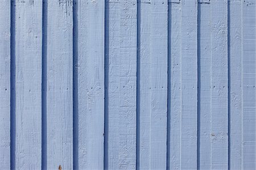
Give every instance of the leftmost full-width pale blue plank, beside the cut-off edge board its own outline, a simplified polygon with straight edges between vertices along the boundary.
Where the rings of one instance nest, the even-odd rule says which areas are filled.
[[[15,168],[41,167],[42,1],[15,1]]]

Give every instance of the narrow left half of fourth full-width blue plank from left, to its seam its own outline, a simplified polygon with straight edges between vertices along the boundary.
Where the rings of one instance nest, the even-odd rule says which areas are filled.
[[[119,169],[119,113],[120,113],[120,14],[121,5],[118,1],[106,2],[106,77],[108,78],[108,100],[107,113],[108,113],[108,133],[106,137],[106,152],[105,152],[105,167],[106,169]]]

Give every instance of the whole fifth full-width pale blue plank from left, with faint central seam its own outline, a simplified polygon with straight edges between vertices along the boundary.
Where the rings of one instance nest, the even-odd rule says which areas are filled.
[[[139,168],[166,169],[167,1],[139,2]]]

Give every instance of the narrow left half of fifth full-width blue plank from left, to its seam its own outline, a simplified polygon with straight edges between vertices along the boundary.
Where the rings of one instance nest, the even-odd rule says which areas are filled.
[[[138,2],[139,169],[150,169],[151,2]],[[138,62],[137,61],[137,62]]]

